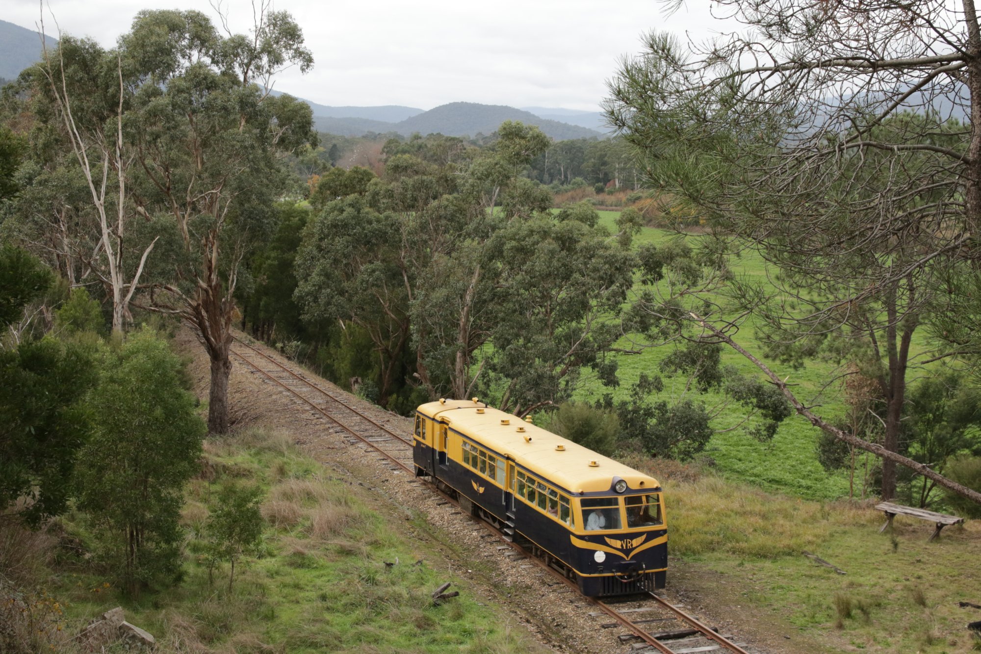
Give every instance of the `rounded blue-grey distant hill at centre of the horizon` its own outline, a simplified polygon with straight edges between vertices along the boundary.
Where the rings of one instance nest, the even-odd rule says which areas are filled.
[[[593,130],[540,118],[531,112],[514,107],[476,102],[450,102],[441,105],[397,123],[395,130],[404,135],[413,132],[420,134],[439,132],[446,136],[475,136],[478,133],[494,132],[504,121],[521,121],[525,125],[537,125],[545,135],[556,140],[602,136]]]

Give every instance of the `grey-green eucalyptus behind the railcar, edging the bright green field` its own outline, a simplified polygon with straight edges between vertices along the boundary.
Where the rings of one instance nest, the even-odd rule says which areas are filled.
[[[547,206],[512,220],[490,240],[500,262],[490,372],[503,379],[502,410],[525,415],[568,399],[583,368],[607,385],[606,357],[623,334],[622,307],[634,286],[630,240],[598,226],[589,206],[552,216]]]

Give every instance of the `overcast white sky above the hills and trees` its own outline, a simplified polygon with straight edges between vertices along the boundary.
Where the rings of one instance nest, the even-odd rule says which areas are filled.
[[[139,9],[199,9],[207,0],[47,0],[62,30],[112,45]],[[226,0],[232,29],[247,31],[248,0]],[[432,109],[457,100],[594,111],[619,59],[641,34],[669,29],[701,40],[708,0],[665,16],[657,0],[275,0],[303,27],[314,55],[305,76],[276,88],[327,105],[401,104]],[[37,0],[4,0],[0,18],[34,28]],[[45,17],[50,26],[50,16]],[[48,29],[50,31],[50,29]]]

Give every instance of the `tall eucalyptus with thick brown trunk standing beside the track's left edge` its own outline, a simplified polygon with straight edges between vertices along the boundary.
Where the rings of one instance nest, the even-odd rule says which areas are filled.
[[[279,157],[314,138],[309,106],[268,88],[313,59],[284,12],[263,12],[251,36],[223,37],[200,12],[141,11],[120,49],[137,80],[124,121],[138,167],[130,185],[166,250],[141,301],[198,333],[211,359],[208,428],[224,433],[238,267],[273,227]]]

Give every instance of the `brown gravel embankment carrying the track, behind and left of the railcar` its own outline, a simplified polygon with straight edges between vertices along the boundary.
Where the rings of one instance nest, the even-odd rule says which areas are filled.
[[[376,494],[382,504],[418,516],[468,580],[483,585],[489,600],[499,602],[518,623],[527,625],[551,647],[627,652],[644,644],[632,641],[624,628],[609,628],[609,617],[597,611],[594,603],[535,561],[513,551],[482,523],[464,517],[453,503],[382,456],[383,451],[391,452],[411,465],[408,446],[397,437],[398,433],[408,436],[411,421],[344,393],[251,339],[243,340],[233,347],[236,365],[231,397],[236,424],[262,422],[285,430],[326,468],[358,479],[357,483]],[[196,348],[193,343],[186,345]],[[203,390],[207,366],[199,360],[194,369]],[[351,414],[345,407],[363,416]],[[752,651],[783,650],[757,647]]]

